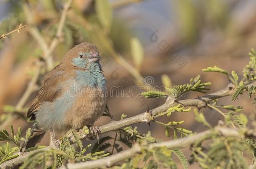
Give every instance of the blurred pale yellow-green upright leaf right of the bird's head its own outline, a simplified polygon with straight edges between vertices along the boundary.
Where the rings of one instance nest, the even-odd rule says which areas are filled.
[[[131,45],[131,55],[133,57],[133,62],[136,65],[136,68],[140,70],[141,63],[144,59],[144,48],[141,45],[141,42],[138,40],[138,38],[131,38],[130,40]]]

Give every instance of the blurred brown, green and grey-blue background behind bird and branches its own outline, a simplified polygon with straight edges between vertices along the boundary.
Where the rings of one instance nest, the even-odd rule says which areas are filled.
[[[216,65],[241,76],[249,61],[248,52],[256,44],[255,0],[73,0],[62,33],[56,37],[65,2],[0,0],[0,35],[21,23],[26,25],[19,33],[0,39],[0,129],[12,123],[25,131],[32,125],[24,116],[43,76],[81,42],[99,48],[108,90],[118,86],[124,93],[136,84],[148,88],[185,84],[198,74],[203,82],[212,82],[209,93],[221,90],[229,83],[227,78],[201,70]],[[54,40],[57,45],[47,53]],[[197,96],[202,94],[188,93],[180,99]],[[220,99],[222,104],[234,104],[230,100]],[[108,93],[107,98],[115,120],[164,102],[139,94],[125,97]],[[246,96],[235,104],[243,106],[245,114],[254,114]],[[201,111],[213,126],[223,119],[209,108]],[[206,129],[194,120],[192,111],[172,114],[169,119],[185,120],[182,126],[194,132]],[[108,117],[102,117],[96,125],[108,122]],[[136,126],[141,133],[150,130],[159,140],[172,139],[158,124]],[[40,144],[49,144],[49,135]]]

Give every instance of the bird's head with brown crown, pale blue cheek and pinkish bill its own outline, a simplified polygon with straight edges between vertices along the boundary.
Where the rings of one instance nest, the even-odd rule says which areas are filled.
[[[76,45],[65,55],[63,62],[80,70],[102,71],[99,64],[101,59],[98,49],[91,43],[80,43]]]

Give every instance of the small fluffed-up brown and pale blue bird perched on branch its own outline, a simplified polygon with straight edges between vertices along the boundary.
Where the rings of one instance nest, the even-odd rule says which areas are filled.
[[[89,126],[98,136],[99,129],[94,122],[102,116],[106,105],[106,79],[100,59],[95,45],[80,43],[47,73],[27,112],[27,117],[36,124],[33,138],[24,147],[35,146],[47,130],[50,130],[56,147],[59,146],[58,136],[70,129]]]

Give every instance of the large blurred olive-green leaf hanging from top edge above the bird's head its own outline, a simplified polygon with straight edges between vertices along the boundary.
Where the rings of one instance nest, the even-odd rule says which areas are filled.
[[[112,24],[112,8],[109,0],[96,0],[95,9],[99,22],[109,32]]]

